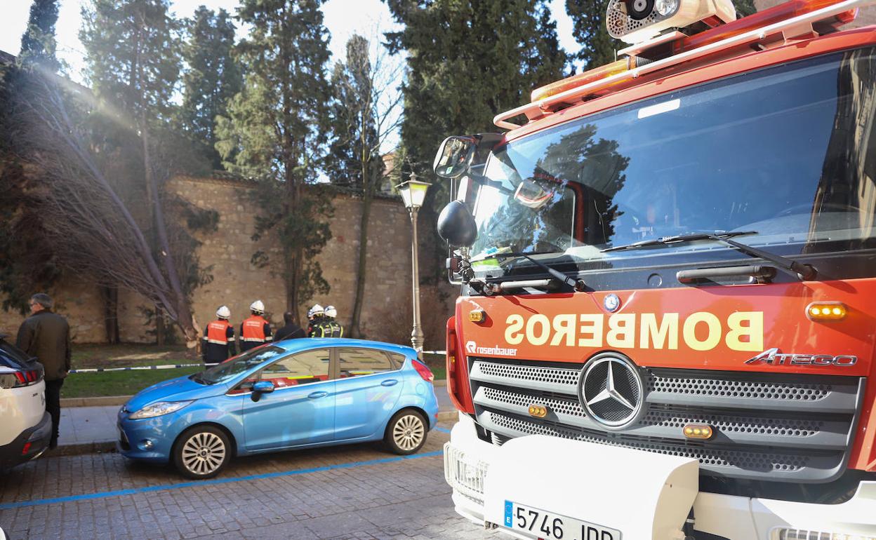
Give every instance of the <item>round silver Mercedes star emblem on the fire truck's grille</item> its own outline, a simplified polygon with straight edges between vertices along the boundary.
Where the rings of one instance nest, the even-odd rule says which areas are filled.
[[[598,354],[584,367],[578,398],[590,417],[609,429],[619,429],[639,417],[645,402],[639,369],[616,353]]]

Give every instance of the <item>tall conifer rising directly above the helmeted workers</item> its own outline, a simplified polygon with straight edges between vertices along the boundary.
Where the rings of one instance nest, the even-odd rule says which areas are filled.
[[[275,231],[282,260],[258,251],[286,282],[286,309],[299,308],[329,284],[314,257],[329,241],[330,200],[317,188],[329,131],[329,32],[320,0],[244,0],[238,18],[251,28],[237,46],[244,89],[216,126],[216,150],[232,172],[257,179],[256,235]]]

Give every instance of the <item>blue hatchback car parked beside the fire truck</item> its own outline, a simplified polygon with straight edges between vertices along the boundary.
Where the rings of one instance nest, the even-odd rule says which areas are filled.
[[[411,347],[284,340],[159,382],[118,411],[118,451],[210,478],[233,456],[383,439],[409,454],[437,420],[432,372]]]

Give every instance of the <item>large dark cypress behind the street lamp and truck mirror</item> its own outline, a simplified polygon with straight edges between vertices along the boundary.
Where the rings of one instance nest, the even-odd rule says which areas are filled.
[[[495,132],[499,112],[529,102],[533,88],[561,79],[567,55],[543,0],[385,0],[404,30],[385,34],[391,53],[406,51],[405,118],[394,174],[433,178],[435,151],[449,135]],[[429,188],[421,223],[434,223],[448,200],[448,183]],[[420,268],[442,278],[443,242],[434,227]],[[427,269],[433,269],[428,275]]]

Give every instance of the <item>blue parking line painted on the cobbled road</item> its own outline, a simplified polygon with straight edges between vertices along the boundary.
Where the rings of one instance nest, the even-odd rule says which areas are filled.
[[[235,478],[216,478],[213,480],[197,480],[194,482],[180,482],[179,484],[166,484],[164,486],[147,486],[133,487],[131,489],[121,489],[118,491],[102,491],[98,493],[89,493],[81,495],[69,495],[67,497],[56,497],[54,499],[38,499],[36,501],[20,501],[20,502],[4,502],[0,503],[0,510],[9,510],[12,508],[25,508],[28,506],[45,506],[46,504],[58,504],[61,502],[88,501],[89,499],[104,499],[107,497],[118,497],[121,495],[133,495],[138,493],[152,493],[153,491],[164,491],[166,489],[180,489],[182,487],[196,486],[215,486],[218,484],[231,484],[234,482],[243,482],[248,480],[263,480],[265,478],[279,478],[282,476],[297,476],[299,474],[321,473],[323,471],[334,471],[337,469],[352,469],[359,466],[383,465],[385,463],[395,463],[405,459],[421,459],[434,458],[442,455],[442,451],[418,453],[410,456],[399,456],[397,458],[385,459],[369,459],[367,461],[354,461],[352,463],[341,463],[338,465],[315,466],[309,469],[295,469],[292,471],[282,471],[280,473],[264,473],[251,474],[249,476],[237,476]]]

